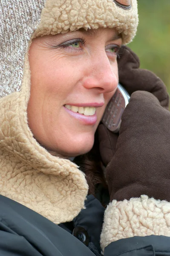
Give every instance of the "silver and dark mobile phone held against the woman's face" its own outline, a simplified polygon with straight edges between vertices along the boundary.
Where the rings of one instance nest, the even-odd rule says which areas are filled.
[[[101,122],[106,125],[110,131],[118,133],[121,125],[121,116],[129,100],[129,93],[121,84],[118,84],[117,90],[109,101],[101,119]]]

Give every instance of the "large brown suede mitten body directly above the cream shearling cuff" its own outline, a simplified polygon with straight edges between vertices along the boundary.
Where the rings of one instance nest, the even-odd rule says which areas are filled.
[[[99,143],[102,140],[115,145],[115,134],[105,130]],[[107,154],[106,149],[100,150],[101,156]],[[132,94],[112,152],[106,168],[110,201],[144,194],[170,201],[170,112],[153,94]]]

